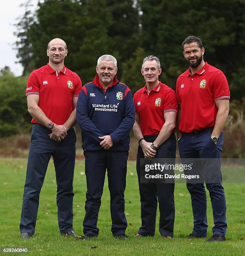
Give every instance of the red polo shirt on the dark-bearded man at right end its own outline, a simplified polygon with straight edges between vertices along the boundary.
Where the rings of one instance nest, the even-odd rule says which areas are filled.
[[[191,131],[214,126],[217,100],[230,99],[230,90],[224,73],[209,65],[191,75],[190,69],[179,76],[176,95],[181,105],[179,131]]]

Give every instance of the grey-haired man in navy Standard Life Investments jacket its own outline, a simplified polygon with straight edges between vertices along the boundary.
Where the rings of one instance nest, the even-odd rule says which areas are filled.
[[[112,235],[127,239],[124,213],[130,130],[135,121],[130,89],[117,80],[117,60],[102,55],[97,76],[82,87],[77,103],[77,123],[82,129],[87,193],[83,221],[85,240],[97,237],[98,213],[107,170]]]

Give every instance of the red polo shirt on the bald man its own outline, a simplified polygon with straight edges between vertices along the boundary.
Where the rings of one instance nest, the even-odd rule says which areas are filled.
[[[38,106],[54,123],[62,125],[73,110],[73,97],[82,88],[79,76],[65,66],[56,72],[49,64],[31,73],[26,87],[27,95],[39,95]],[[37,123],[32,119],[31,123]]]

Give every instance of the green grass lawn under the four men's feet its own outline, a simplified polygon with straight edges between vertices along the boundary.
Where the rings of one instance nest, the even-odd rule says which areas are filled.
[[[0,248],[28,248],[31,255],[245,255],[245,184],[224,184],[227,200],[227,241],[207,243],[207,239],[189,240],[193,217],[185,184],[176,184],[174,239],[162,239],[156,223],[155,237],[135,238],[140,227],[140,200],[135,162],[128,162],[125,212],[129,240],[112,238],[110,232],[110,196],[105,181],[98,228],[100,235],[89,241],[59,235],[56,207],[54,164],[50,161],[40,195],[36,233],[21,240],[19,232],[23,186],[27,159],[0,158]],[[77,161],[74,175],[74,230],[82,234],[86,180],[84,162]],[[159,219],[159,213],[157,220]],[[212,236],[212,208],[208,200],[208,237]],[[92,249],[91,246],[98,246]]]

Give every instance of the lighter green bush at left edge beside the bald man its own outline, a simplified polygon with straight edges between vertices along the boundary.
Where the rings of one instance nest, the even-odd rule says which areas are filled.
[[[27,77],[14,77],[6,70],[0,75],[0,137],[23,131],[31,119],[25,97]]]

